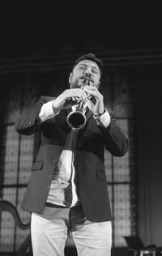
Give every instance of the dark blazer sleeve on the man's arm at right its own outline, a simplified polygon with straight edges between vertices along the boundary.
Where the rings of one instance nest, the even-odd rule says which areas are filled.
[[[105,148],[113,156],[125,156],[129,148],[128,139],[123,133],[120,126],[117,125],[114,112],[111,109],[107,109],[111,117],[111,122],[108,127],[100,127],[104,136]]]

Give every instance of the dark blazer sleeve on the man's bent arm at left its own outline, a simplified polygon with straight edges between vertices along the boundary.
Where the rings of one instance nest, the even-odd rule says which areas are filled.
[[[53,100],[52,97],[40,96],[35,105],[29,107],[15,122],[15,130],[19,134],[32,135],[40,130],[43,122],[37,122],[40,109],[47,101]]]

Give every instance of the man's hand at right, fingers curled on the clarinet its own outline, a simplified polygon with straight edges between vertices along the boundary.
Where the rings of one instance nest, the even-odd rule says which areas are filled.
[[[88,95],[92,96],[90,100],[87,101],[87,107],[92,111],[96,116],[100,116],[104,113],[104,97],[98,91],[95,86],[85,86],[85,92]]]

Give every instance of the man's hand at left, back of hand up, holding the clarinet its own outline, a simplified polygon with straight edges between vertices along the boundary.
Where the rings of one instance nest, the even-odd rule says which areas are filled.
[[[77,100],[72,100],[75,97],[85,98],[86,93],[80,88],[65,90],[56,100],[53,100],[53,112],[58,113],[61,109],[69,109],[73,105],[76,105]]]

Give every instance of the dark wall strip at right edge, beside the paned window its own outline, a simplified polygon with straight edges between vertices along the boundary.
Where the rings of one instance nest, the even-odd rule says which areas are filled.
[[[161,66],[147,66],[136,81],[139,236],[162,245]],[[159,75],[158,75],[159,74]]]

